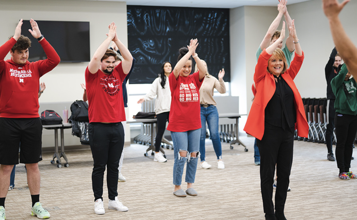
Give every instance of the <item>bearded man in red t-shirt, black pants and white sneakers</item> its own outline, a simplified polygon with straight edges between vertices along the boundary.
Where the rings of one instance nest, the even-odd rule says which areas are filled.
[[[131,71],[134,58],[119,40],[114,22],[110,24],[107,36],[85,70],[90,122],[88,133],[94,161],[92,188],[95,214],[105,214],[102,197],[105,167],[108,208],[128,210],[117,198],[118,166],[124,147],[124,128],[121,122],[126,121],[121,84]],[[124,58],[117,66],[114,65],[116,53],[107,49],[111,41],[115,42]]]

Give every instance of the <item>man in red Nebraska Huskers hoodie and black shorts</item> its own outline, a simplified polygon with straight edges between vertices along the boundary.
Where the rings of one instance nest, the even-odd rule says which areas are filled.
[[[42,124],[39,117],[39,79],[50,72],[60,57],[46,41],[33,19],[30,20],[31,35],[44,49],[47,59],[29,62],[31,41],[21,35],[22,19],[15,34],[0,47],[0,220],[5,219],[5,198],[9,189],[10,173],[14,164],[27,168],[27,184],[32,199],[31,215],[47,219],[50,214],[40,201],[40,170],[42,160]],[[4,61],[7,53],[11,59]]]

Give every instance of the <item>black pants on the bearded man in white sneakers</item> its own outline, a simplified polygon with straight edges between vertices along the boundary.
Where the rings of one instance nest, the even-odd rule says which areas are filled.
[[[121,152],[124,147],[124,128],[118,123],[89,124],[89,143],[93,156],[92,188],[94,201],[103,200],[103,179],[107,167],[107,187],[109,199],[114,200],[118,195],[118,167]]]

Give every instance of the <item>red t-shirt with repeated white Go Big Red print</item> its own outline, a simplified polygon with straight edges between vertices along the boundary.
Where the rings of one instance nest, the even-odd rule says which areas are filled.
[[[167,130],[184,132],[201,128],[199,90],[203,79],[200,82],[199,74],[200,71],[175,79],[174,73],[170,73],[171,107]]]

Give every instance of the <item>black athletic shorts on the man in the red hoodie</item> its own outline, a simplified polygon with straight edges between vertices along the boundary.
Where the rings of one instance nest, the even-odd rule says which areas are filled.
[[[42,161],[42,124],[37,118],[0,118],[0,164]]]

